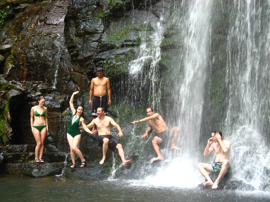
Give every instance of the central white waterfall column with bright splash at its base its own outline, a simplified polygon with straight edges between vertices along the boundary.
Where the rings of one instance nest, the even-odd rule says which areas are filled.
[[[185,16],[174,18],[175,23],[181,22],[177,24],[184,37],[184,47],[180,48],[178,53],[178,57],[184,57],[184,75],[174,86],[179,101],[173,106],[173,113],[178,114],[179,119],[167,123],[169,128],[180,128],[182,152],[174,150],[175,155],[171,156],[171,152],[167,152],[168,149],[163,150],[163,154],[167,152],[164,155],[167,159],[164,161],[166,166],[161,166],[155,176],[145,179],[150,184],[160,186],[192,187],[202,181],[196,164],[198,156],[202,155],[198,147],[204,82],[208,67],[212,1],[195,0],[188,5],[189,10]],[[166,115],[169,117],[169,113]],[[168,148],[170,147],[171,141],[168,143]]]

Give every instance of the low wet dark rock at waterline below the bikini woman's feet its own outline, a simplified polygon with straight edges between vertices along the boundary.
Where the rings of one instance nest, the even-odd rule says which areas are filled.
[[[5,174],[46,177],[60,175],[64,163],[2,163],[0,170]]]

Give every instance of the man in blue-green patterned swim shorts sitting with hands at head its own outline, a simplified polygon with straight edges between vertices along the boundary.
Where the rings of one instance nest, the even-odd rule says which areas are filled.
[[[215,163],[198,163],[197,168],[201,174],[207,180],[203,183],[204,186],[212,186],[212,189],[217,189],[220,179],[230,172],[230,154],[231,154],[231,142],[228,140],[222,140],[222,132],[220,130],[214,130],[211,134],[211,138],[208,140],[204,149],[203,155],[208,156],[213,150],[216,152]],[[212,142],[214,141],[214,144]],[[211,145],[212,144],[212,145]],[[211,146],[210,146],[211,145]],[[213,182],[208,172],[220,171],[217,179]]]

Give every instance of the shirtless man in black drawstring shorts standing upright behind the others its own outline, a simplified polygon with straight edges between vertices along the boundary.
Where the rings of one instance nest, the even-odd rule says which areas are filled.
[[[110,80],[107,77],[103,76],[104,71],[102,67],[97,68],[97,77],[91,80],[90,91],[89,91],[89,105],[92,105],[92,96],[93,98],[93,107],[92,107],[92,117],[95,119],[97,117],[97,107],[103,107],[105,109],[104,115],[108,115],[108,103],[111,106],[111,89],[110,89]],[[107,93],[109,97],[109,102],[107,101]],[[95,125],[93,130],[95,130]]]

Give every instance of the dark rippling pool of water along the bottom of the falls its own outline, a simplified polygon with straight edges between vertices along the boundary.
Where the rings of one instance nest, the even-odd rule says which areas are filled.
[[[156,187],[138,180],[69,180],[0,176],[0,201],[270,201],[263,191]]]

